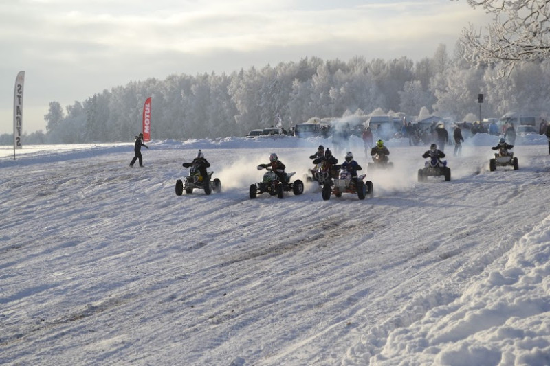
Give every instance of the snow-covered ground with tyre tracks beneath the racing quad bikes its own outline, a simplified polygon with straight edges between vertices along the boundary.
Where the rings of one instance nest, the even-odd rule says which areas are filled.
[[[270,152],[301,178],[322,139],[153,141],[145,168],[131,144],[3,147],[0,364],[550,365],[547,141],[489,172],[496,140],[426,183],[426,146],[389,141],[364,201],[248,198]],[[199,148],[222,192],[176,196]]]

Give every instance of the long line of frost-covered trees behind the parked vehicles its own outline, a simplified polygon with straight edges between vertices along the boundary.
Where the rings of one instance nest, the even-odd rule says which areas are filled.
[[[417,62],[364,57],[342,60],[303,58],[230,75],[170,75],[129,82],[63,108],[50,102],[46,132],[23,135],[23,144],[75,144],[131,141],[141,131],[142,108],[153,97],[153,139],[243,136],[254,128],[285,128],[311,117],[436,114],[475,120],[478,94],[485,95],[483,117],[528,111],[550,112],[550,61],[518,62],[503,76],[505,62],[472,65],[457,42],[449,56],[439,45]],[[548,119],[548,118],[547,118]],[[11,144],[12,135],[0,143]],[[11,137],[12,138],[12,137]]]

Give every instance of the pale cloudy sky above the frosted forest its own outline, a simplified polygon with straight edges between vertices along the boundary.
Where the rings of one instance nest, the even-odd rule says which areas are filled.
[[[311,56],[416,61],[440,43],[452,54],[463,27],[484,21],[465,0],[0,0],[0,133],[13,132],[21,70],[23,131],[45,132],[50,102],[130,81]]]

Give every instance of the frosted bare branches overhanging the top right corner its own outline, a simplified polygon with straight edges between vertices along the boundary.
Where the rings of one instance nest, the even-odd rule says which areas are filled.
[[[550,1],[467,0],[473,8],[494,15],[485,30],[465,28],[464,56],[475,64],[504,62],[509,73],[518,62],[543,60],[550,55]]]

